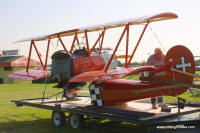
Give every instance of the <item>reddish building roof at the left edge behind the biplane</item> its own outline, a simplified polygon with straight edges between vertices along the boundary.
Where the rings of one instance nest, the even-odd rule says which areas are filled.
[[[0,57],[0,66],[26,66],[28,58],[25,56]],[[41,66],[40,62],[31,59],[29,66]]]

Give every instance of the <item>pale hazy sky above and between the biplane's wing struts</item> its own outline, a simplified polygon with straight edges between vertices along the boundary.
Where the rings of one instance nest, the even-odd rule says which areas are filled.
[[[178,19],[150,24],[161,44],[147,29],[134,61],[146,60],[156,47],[167,51],[175,45],[185,45],[193,55],[200,56],[199,5],[199,0],[1,0],[0,50],[19,49],[22,55],[28,56],[30,42],[13,42],[66,29],[173,12]],[[141,26],[132,28],[129,52],[132,52],[141,29]],[[107,34],[105,46],[114,48],[121,32],[122,29],[118,29]],[[94,35],[89,37],[94,42]],[[52,42],[51,53],[59,49],[56,42]],[[37,46],[45,55],[46,43],[37,43]],[[124,52],[123,46],[120,46],[119,54]]]

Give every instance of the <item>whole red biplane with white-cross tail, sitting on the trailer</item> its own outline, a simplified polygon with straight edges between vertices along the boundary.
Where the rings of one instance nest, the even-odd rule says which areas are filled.
[[[14,72],[8,75],[8,77],[23,80],[37,80],[48,75],[49,72],[46,69],[50,42],[52,39],[58,38],[64,50],[57,51],[51,56],[52,68],[50,77],[59,79],[57,87],[64,88],[64,96],[67,98],[73,98],[75,95],[72,94],[78,92],[74,91],[74,88],[83,86],[86,82],[91,82],[89,86],[91,101],[98,106],[162,95],[177,96],[185,92],[188,86],[192,84],[193,78],[196,77],[196,75],[194,75],[194,58],[190,50],[186,47],[181,45],[172,47],[166,54],[165,65],[160,68],[155,68],[153,66],[129,67],[148,25],[152,22],[175,19],[177,17],[178,16],[174,13],[160,13],[147,17],[132,18],[20,40],[18,42],[31,42],[27,69]],[[129,29],[132,25],[141,24],[144,25],[144,29],[131,56],[129,56]],[[117,27],[124,27],[124,30],[112,55],[105,55],[105,53],[102,52],[105,32]],[[96,31],[102,32],[91,47],[89,45],[88,33]],[[116,65],[114,65],[115,62],[113,62],[113,59],[116,58],[116,52],[125,33],[125,68],[115,69]],[[85,35],[85,47],[79,45],[79,34]],[[62,38],[67,36],[74,36],[70,49],[67,49],[62,41]],[[43,63],[35,45],[36,42],[43,40],[48,40],[45,63]],[[78,49],[76,50],[74,49],[75,42],[77,42],[78,45]],[[99,48],[96,48],[98,43],[100,43]],[[29,69],[33,47],[38,54],[42,70]],[[108,60],[106,60],[107,57],[109,57]],[[140,81],[125,79],[127,76],[138,73],[144,73],[143,76],[140,77]]]

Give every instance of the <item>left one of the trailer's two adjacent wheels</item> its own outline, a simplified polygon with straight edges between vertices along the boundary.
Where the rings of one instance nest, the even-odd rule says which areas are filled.
[[[52,122],[56,127],[63,127],[66,123],[65,113],[63,112],[52,112]]]

